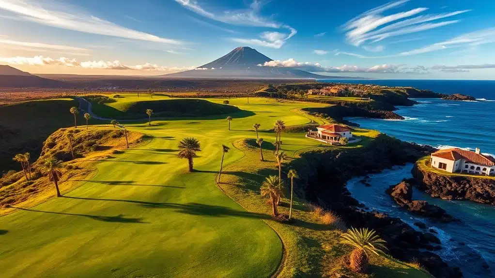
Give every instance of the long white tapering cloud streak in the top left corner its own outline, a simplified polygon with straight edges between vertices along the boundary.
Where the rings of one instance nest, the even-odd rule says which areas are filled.
[[[42,5],[40,1],[36,0],[1,0],[0,9],[17,14],[21,20],[56,28],[133,40],[182,44],[179,40],[161,38],[132,30],[93,15],[78,12],[73,7],[68,9],[67,5],[60,5],[52,1],[44,2]]]

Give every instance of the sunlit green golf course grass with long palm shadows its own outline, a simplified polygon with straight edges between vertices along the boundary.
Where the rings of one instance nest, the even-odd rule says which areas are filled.
[[[121,100],[125,98],[112,105],[123,105]],[[302,200],[296,200],[294,224],[271,220],[259,186],[276,172],[272,151],[266,150],[267,161],[260,162],[259,150],[244,143],[256,137],[255,122],[261,123],[259,134],[267,142],[275,139],[268,130],[277,119],[287,125],[322,123],[300,108],[323,105],[264,98],[249,102],[230,100],[253,113],[234,118],[231,131],[225,119],[127,124],[154,139],[98,162],[98,173],[75,190],[64,192],[62,183],[64,198],[0,217],[2,277],[270,277],[281,263],[282,241],[286,256],[279,277],[345,272],[348,250],[337,244],[340,232],[318,223]],[[187,172],[186,160],[177,158],[177,143],[190,136],[198,138],[203,150],[194,173]],[[304,138],[304,133],[283,133],[282,141],[291,158],[333,148]],[[343,148],[359,148],[366,141]],[[222,144],[231,151],[225,156],[220,190],[215,178]],[[375,277],[427,277],[383,257],[372,264]]]

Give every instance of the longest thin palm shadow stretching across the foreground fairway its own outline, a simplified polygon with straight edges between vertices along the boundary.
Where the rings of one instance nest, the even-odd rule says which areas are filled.
[[[69,199],[83,199],[83,200],[99,200],[99,201],[117,201],[117,202],[129,202],[141,205],[147,208],[170,208],[180,213],[186,213],[191,215],[203,215],[212,217],[225,217],[225,216],[237,216],[245,218],[255,219],[271,219],[269,215],[262,213],[248,212],[244,210],[235,210],[225,206],[209,205],[201,203],[166,203],[166,202],[149,202],[139,200],[126,200],[126,199],[96,199],[96,198],[83,198],[83,197],[70,197],[62,196]]]

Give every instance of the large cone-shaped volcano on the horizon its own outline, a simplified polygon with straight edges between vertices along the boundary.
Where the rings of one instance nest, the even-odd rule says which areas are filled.
[[[214,78],[214,79],[329,79],[332,77],[309,72],[282,68],[260,67],[273,59],[259,53],[256,49],[242,46],[213,62],[204,64],[195,70],[168,74],[164,78]],[[342,77],[340,77],[342,78]]]

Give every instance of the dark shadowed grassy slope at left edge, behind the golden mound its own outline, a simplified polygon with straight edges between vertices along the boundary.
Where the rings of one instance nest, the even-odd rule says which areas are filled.
[[[0,173],[20,170],[20,165],[12,161],[17,153],[29,152],[36,160],[43,141],[52,132],[74,125],[74,117],[69,113],[72,106],[78,107],[79,103],[73,99],[53,99],[0,105]],[[81,114],[77,120],[85,122]]]

